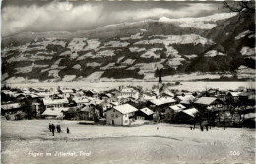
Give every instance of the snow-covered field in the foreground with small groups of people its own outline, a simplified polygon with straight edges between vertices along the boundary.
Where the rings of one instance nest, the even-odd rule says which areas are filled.
[[[113,127],[51,121],[64,132],[53,137],[49,120],[2,120],[2,163],[253,163],[254,130],[186,125]],[[70,134],[66,134],[69,127]],[[157,130],[159,127],[159,130]],[[77,156],[54,156],[55,152]],[[80,152],[87,153],[83,156]],[[42,153],[33,157],[32,153]],[[46,157],[46,153],[52,156]]]

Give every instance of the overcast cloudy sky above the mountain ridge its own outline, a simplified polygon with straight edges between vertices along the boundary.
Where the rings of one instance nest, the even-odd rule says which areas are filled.
[[[4,0],[2,36],[24,31],[77,31],[160,17],[201,17],[224,12],[222,2],[42,2]]]

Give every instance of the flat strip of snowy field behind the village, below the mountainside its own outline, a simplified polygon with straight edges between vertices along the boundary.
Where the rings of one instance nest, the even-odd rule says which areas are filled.
[[[147,71],[147,70],[145,70]],[[99,75],[99,74],[98,74]],[[95,75],[94,75],[95,76]],[[94,78],[94,76],[92,76]],[[100,75],[101,76],[101,75]],[[185,75],[184,75],[185,76]],[[191,75],[192,76],[192,75]],[[91,77],[89,77],[91,78]],[[87,79],[89,79],[87,77]],[[181,77],[170,77],[173,80],[177,80]],[[96,76],[95,79],[98,79]],[[9,82],[16,82],[16,83],[6,83],[7,86],[11,87],[19,87],[19,88],[57,88],[65,87],[65,88],[83,88],[83,89],[97,89],[97,90],[108,90],[110,88],[118,88],[119,86],[142,86],[144,89],[151,89],[153,85],[156,85],[158,83],[158,78],[152,78],[151,80],[155,80],[155,82],[147,82],[147,81],[141,81],[141,82],[132,82],[133,79],[121,79],[123,82],[115,82],[115,79],[107,79],[102,78],[102,80],[107,80],[109,82],[36,82],[36,83],[26,83],[21,82],[24,81],[22,77],[14,78],[12,77],[12,80],[8,80]],[[166,81],[165,77],[163,81]],[[19,83],[21,82],[21,83]],[[175,81],[174,81],[175,82]],[[164,82],[167,83],[167,82]],[[173,82],[172,82],[173,83]],[[247,82],[212,82],[212,81],[182,81],[181,85],[171,86],[170,89],[178,89],[178,90],[188,90],[188,91],[204,91],[206,88],[218,88],[220,90],[235,90],[238,89],[240,86],[243,86],[245,88],[255,88],[255,82],[254,81],[247,81]]]

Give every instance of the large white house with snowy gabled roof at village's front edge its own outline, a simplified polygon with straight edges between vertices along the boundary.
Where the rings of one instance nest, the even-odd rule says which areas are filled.
[[[130,125],[136,111],[138,109],[129,104],[114,106],[106,111],[106,123],[121,126]]]

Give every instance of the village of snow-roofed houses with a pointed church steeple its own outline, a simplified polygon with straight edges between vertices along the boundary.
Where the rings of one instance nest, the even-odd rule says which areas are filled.
[[[219,127],[255,127],[255,89],[152,90],[119,86],[107,91],[76,88],[2,87],[2,119],[77,120],[80,124],[138,126],[171,123]]]

